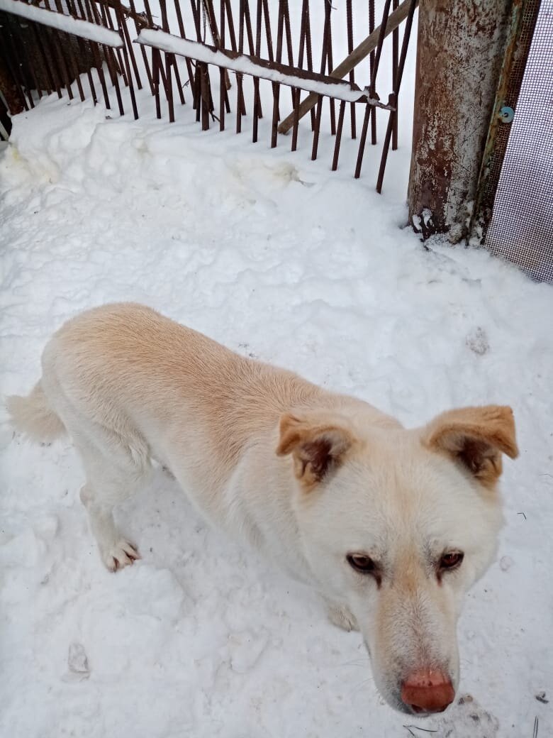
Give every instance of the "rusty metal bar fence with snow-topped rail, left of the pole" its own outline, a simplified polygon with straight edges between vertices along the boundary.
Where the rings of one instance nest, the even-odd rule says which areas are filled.
[[[137,91],[145,87],[158,118],[167,111],[173,122],[179,104],[188,101],[204,130],[215,123],[221,131],[232,126],[240,133],[249,121],[251,140],[257,142],[265,116],[271,122],[271,147],[279,134],[291,131],[292,151],[298,147],[299,121],[308,114],[311,158],[316,159],[322,110],[328,106],[332,169],[338,168],[349,118],[349,135],[358,139],[355,177],[361,174],[367,137],[377,142],[381,110],[388,117],[377,180],[381,190],[389,148],[397,148],[397,104],[418,0],[381,0],[378,27],[375,0],[366,0],[366,36],[357,46],[359,4],[353,0],[338,7],[330,0],[294,0],[290,6],[288,0],[156,0],[156,7],[140,1],[142,10],[135,0],[128,5],[120,0],[0,0],[0,108],[4,104],[12,113],[32,108],[42,94],[55,92],[102,100],[107,108],[138,118],[145,97]],[[321,21],[316,36],[314,26]],[[347,38],[347,56],[336,63],[333,40],[338,33]],[[378,73],[389,35],[392,89],[381,98]],[[248,77],[253,94],[245,94]],[[356,77],[365,84],[359,86]],[[271,86],[268,111],[261,83]],[[282,86],[288,94],[282,94]]]

